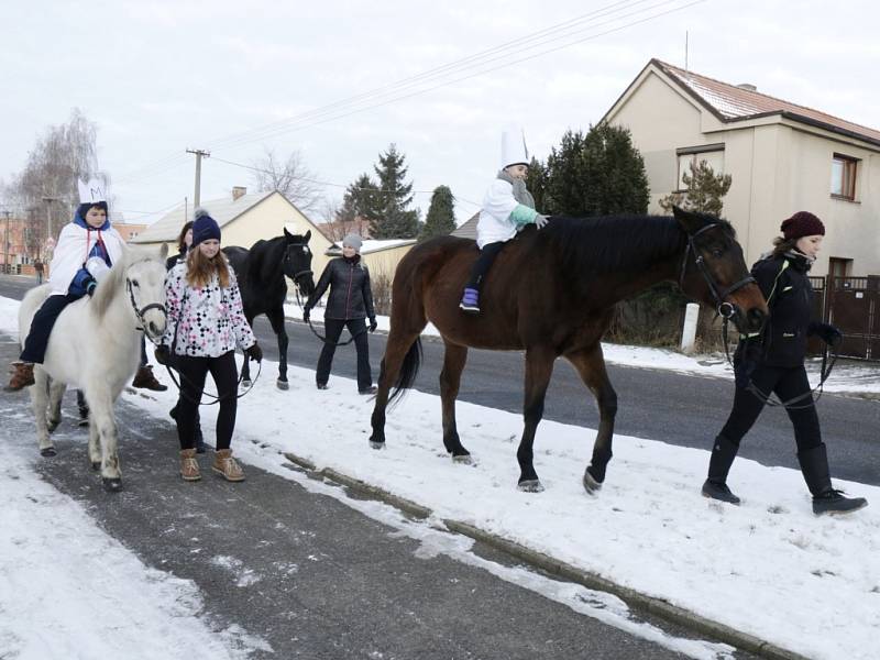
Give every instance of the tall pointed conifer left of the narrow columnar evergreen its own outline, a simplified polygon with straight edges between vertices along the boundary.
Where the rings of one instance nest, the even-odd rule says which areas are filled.
[[[419,213],[408,208],[413,204],[413,184],[405,183],[405,160],[392,143],[374,166],[381,190],[376,215],[370,218],[375,239],[415,239],[418,235]]]

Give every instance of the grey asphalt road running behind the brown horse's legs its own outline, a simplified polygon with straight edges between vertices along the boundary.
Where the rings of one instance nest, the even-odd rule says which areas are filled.
[[[33,280],[0,276],[0,295],[21,298]],[[264,317],[257,318],[255,332],[263,351],[277,359],[274,334]],[[288,362],[315,369],[319,341],[308,327],[288,322],[290,338]],[[343,339],[346,334],[343,333]],[[424,341],[425,360],[416,381],[422,392],[439,394],[438,376],[443,355],[439,340]],[[370,358],[374,378],[385,351],[385,336],[370,336]],[[880,366],[878,366],[880,369]],[[337,350],[333,374],[355,376],[354,346]],[[472,350],[462,377],[459,398],[492,408],[519,413],[522,402],[522,355],[518,352]],[[615,431],[618,435],[650,438],[697,449],[708,449],[724,426],[733,403],[733,378],[683,375],[667,370],[608,365],[608,374],[618,395]],[[266,370],[263,377],[273,377]],[[330,385],[332,386],[332,375]],[[394,413],[392,411],[392,415]],[[828,446],[832,475],[880,485],[880,402],[824,394],[818,402],[823,436]],[[544,417],[554,421],[596,428],[595,400],[574,370],[564,360],[557,362],[547,395]],[[440,425],[440,407],[437,410]],[[623,442],[624,440],[617,440]],[[388,442],[394,442],[389,437]],[[462,437],[468,447],[468,438]],[[794,436],[784,410],[767,408],[743,441],[740,455],[765,465],[798,469]],[[512,457],[512,460],[514,458]],[[734,471],[736,466],[734,466]],[[614,479],[615,463],[608,468]],[[732,477],[735,483],[735,473]],[[698,487],[700,484],[694,484]]]

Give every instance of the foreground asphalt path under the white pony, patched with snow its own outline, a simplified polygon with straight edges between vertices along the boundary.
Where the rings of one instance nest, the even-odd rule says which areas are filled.
[[[16,351],[0,336],[0,361]],[[229,484],[207,470],[209,454],[205,479],[185,483],[170,420],[124,399],[117,405],[124,491],[108,494],[88,468],[86,429],[73,425],[73,393],[52,459],[36,451],[28,406],[26,393],[0,392],[3,442],[32,451],[43,479],[146,565],[197,584],[198,614],[211,629],[234,626],[267,642],[272,651],[256,649],[254,660],[681,657],[480,566],[420,552],[398,529],[253,465],[245,465],[248,481]],[[512,563],[480,546],[473,552]],[[692,638],[639,613],[631,620]]]

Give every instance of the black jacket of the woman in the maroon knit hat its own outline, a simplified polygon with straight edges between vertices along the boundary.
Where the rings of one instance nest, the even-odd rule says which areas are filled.
[[[751,274],[758,282],[770,319],[759,337],[746,340],[740,349],[768,366],[801,366],[806,356],[806,338],[813,334],[813,287],[807,272],[810,262],[803,255],[784,254],[757,262]],[[749,346],[748,344],[752,344]]]

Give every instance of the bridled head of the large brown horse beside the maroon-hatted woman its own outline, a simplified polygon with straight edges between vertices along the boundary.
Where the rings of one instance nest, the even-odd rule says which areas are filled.
[[[679,286],[718,310],[740,332],[757,332],[767,319],[767,301],[749,273],[734,228],[708,213],[673,207],[688,234]]]

